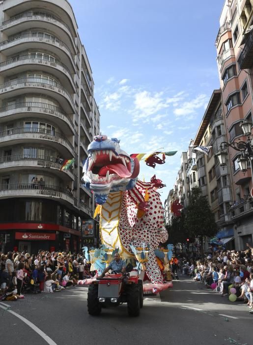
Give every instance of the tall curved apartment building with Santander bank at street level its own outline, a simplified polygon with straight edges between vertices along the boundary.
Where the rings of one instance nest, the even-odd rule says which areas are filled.
[[[0,31],[0,250],[77,251],[94,209],[82,162],[100,115],[73,10],[4,0]]]

